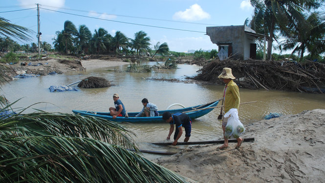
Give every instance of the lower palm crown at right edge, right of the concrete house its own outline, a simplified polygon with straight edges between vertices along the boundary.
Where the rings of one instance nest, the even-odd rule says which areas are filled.
[[[292,50],[292,53],[300,53],[303,58],[305,51],[311,54],[311,58],[325,52],[325,13],[313,12],[297,23],[288,26],[289,31],[282,31],[287,39],[280,43],[281,50]]]

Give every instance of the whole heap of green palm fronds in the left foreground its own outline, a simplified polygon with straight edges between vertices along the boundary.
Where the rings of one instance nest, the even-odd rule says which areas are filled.
[[[125,149],[136,149],[129,133],[90,116],[40,112],[2,117],[0,182],[189,182]]]

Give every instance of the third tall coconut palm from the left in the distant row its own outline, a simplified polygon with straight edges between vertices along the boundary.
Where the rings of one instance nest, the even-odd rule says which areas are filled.
[[[104,28],[95,29],[95,33],[92,36],[92,45],[96,49],[96,52],[100,53],[101,49],[106,49],[106,46],[110,41],[111,35],[108,34],[107,30]]]

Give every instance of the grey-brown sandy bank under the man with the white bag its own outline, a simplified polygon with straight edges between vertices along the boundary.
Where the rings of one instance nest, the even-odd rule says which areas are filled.
[[[261,120],[243,137],[255,141],[239,150],[198,145],[153,161],[201,183],[325,183],[324,109]]]

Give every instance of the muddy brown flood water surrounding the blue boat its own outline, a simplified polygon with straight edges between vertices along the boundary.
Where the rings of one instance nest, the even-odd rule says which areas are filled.
[[[153,65],[155,63],[141,63]],[[35,78],[23,78],[2,86],[2,93],[10,102],[20,99],[14,108],[25,108],[38,102],[44,102],[32,106],[34,109],[46,112],[72,113],[72,110],[108,111],[113,105],[113,93],[120,95],[128,112],[139,112],[143,105],[141,100],[148,98],[149,102],[157,105],[159,110],[165,110],[174,103],[186,107],[205,104],[222,97],[223,86],[199,85],[195,83],[174,83],[168,81],[154,81],[148,78],[177,78],[194,76],[200,69],[198,66],[178,65],[179,69],[154,70],[151,73],[118,72],[126,70],[129,65],[87,69],[87,71],[75,71],[59,75],[46,75]],[[114,71],[115,70],[115,71]],[[89,76],[104,77],[115,84],[108,88],[79,89],[79,91],[50,92],[51,85],[68,85],[80,81]],[[236,77],[236,76],[235,76]],[[147,79],[146,79],[147,78]],[[263,119],[266,114],[298,114],[303,110],[324,109],[325,94],[311,94],[282,91],[256,91],[241,89],[240,102],[257,101],[252,104],[240,105],[238,113],[240,121],[245,124]],[[25,113],[35,110],[29,108]],[[173,108],[180,108],[174,106]],[[173,109],[172,108],[172,109]],[[217,140],[222,136],[220,121],[217,116],[220,109],[214,109],[209,114],[193,120],[192,136],[190,141]],[[122,123],[137,136],[134,139],[141,149],[152,151],[177,151],[176,147],[158,147],[150,142],[164,142],[168,132],[167,123]],[[183,137],[180,141],[183,141]]]

